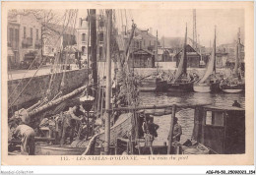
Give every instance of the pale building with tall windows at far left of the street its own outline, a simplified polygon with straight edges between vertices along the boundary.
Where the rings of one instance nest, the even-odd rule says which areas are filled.
[[[41,25],[32,14],[8,17],[7,28],[8,57],[11,58],[11,64],[19,65],[34,59],[40,53]]]

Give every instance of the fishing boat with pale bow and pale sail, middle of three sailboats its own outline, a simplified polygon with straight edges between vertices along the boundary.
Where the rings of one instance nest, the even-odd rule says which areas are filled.
[[[196,92],[218,92],[220,91],[221,81],[216,76],[216,29],[213,45],[212,57],[209,60],[208,67],[202,79],[193,85]]]

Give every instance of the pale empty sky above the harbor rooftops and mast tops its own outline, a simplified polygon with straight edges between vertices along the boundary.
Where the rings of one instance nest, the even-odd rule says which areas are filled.
[[[87,10],[79,10],[78,18],[86,16]],[[115,10],[115,17],[119,29],[122,24],[126,23],[130,28],[132,20],[134,20],[137,28],[152,28],[154,35],[158,29],[159,38],[162,36],[184,37],[187,23],[188,37],[193,38],[192,9]],[[237,38],[238,28],[241,30],[241,41],[244,40],[243,9],[197,9],[196,25],[199,42],[206,47],[213,43],[215,26],[217,28],[217,45],[233,42]]]

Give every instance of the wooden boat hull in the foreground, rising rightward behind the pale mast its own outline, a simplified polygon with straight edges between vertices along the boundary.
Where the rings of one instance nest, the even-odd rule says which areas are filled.
[[[126,113],[118,117],[118,120],[110,128],[110,153],[114,153],[114,143],[116,138],[126,137],[129,132],[132,130],[132,114]],[[96,134],[94,137],[89,140],[75,140],[71,145],[47,145],[40,144],[36,146],[36,154],[39,155],[82,155],[85,154],[95,154],[99,155],[103,152],[103,141],[104,139],[104,130]],[[92,151],[91,149],[94,149]],[[91,152],[90,152],[91,151]]]

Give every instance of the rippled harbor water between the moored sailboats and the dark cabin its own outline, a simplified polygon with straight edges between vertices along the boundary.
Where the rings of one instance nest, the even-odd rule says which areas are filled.
[[[168,93],[140,93],[141,105],[160,105],[171,103],[212,103],[216,105],[231,106],[233,101],[237,100],[244,108],[244,93],[197,93],[197,92],[168,92]],[[167,143],[167,137],[170,127],[170,115],[155,116],[154,123],[160,126],[158,138],[153,145],[163,145]],[[176,113],[178,123],[182,127],[182,136],[180,143],[183,144],[187,139],[191,139],[194,127],[194,110],[183,109]]]

